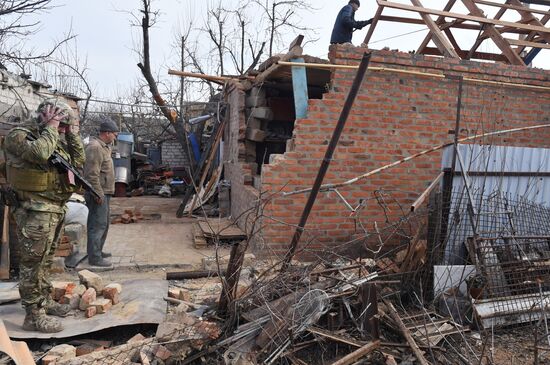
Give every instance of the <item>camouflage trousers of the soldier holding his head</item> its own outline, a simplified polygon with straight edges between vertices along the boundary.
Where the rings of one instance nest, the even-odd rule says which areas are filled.
[[[21,258],[19,263],[19,293],[24,307],[43,307],[50,297],[49,280],[55,250],[63,228],[62,213],[39,212],[16,208]]]

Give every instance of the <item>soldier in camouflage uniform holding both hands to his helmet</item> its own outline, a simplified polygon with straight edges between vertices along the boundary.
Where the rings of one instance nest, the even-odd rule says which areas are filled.
[[[30,141],[31,134],[36,140]],[[68,305],[52,300],[49,271],[59,243],[65,203],[75,190],[74,177],[48,163],[57,151],[73,166],[84,164],[84,146],[78,119],[64,102],[49,99],[40,104],[37,116],[13,128],[4,140],[6,176],[19,202],[13,214],[21,247],[19,292],[26,316],[23,328],[45,333],[59,332]]]

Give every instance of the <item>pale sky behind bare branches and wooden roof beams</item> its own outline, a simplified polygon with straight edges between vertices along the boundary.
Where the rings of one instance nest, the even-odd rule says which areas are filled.
[[[222,0],[223,6],[231,6],[237,0]],[[394,0],[410,4],[406,0]],[[159,11],[158,21],[151,30],[152,62],[158,74],[165,75],[170,64],[176,59],[176,35],[180,29],[190,27],[197,31],[206,20],[206,9],[209,4],[217,3],[214,0],[153,0],[153,8]],[[446,1],[445,1],[446,2]],[[313,0],[315,8],[310,11],[300,11],[297,22],[300,25],[313,28],[310,33],[317,38],[316,42],[308,42],[304,46],[304,53],[327,58],[330,33],[336,14],[347,0]],[[442,9],[442,0],[423,0],[425,7]],[[136,66],[138,54],[136,45],[141,37],[140,28],[132,26],[136,18],[137,9],[141,0],[54,0],[57,6],[47,14],[40,14],[42,21],[40,32],[27,40],[29,47],[41,48],[51,45],[60,39],[63,33],[72,29],[77,35],[78,52],[80,57],[86,57],[88,66],[88,81],[94,89],[96,98],[109,99],[127,92],[136,80],[141,77]],[[377,9],[375,0],[362,0],[362,6],[356,13],[356,20],[371,18]],[[453,11],[460,7],[453,8]],[[465,10],[462,10],[465,12]],[[486,8],[492,14],[494,8]],[[401,15],[415,17],[413,13],[399,12],[385,9],[386,15]],[[510,12],[504,20],[515,21],[519,16]],[[367,28],[354,33],[354,44],[360,44],[364,39]],[[296,37],[296,33],[288,33],[281,44],[288,45]],[[427,29],[418,25],[379,23],[372,37],[370,47],[379,49],[389,47],[402,51],[415,50],[421,43]],[[457,32],[458,42],[468,49],[477,32]],[[203,47],[204,39],[199,44]],[[279,47],[277,51],[284,52]],[[495,52],[498,49],[490,42],[485,42],[480,51]],[[179,52],[179,51],[177,51]],[[208,56],[206,56],[208,57]],[[171,63],[170,63],[171,62]],[[534,62],[535,67],[550,68],[550,50],[543,50]]]

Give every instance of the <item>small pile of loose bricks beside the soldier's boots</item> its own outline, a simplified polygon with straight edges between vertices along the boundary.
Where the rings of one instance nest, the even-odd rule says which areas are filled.
[[[82,270],[78,273],[80,283],[53,282],[52,298],[69,304],[72,309],[85,312],[86,318],[103,314],[120,302],[122,286],[117,283],[104,285],[101,276]]]

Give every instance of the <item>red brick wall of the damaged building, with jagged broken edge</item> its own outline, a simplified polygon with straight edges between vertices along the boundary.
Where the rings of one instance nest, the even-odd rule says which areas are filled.
[[[332,46],[332,63],[357,65],[365,49]],[[504,64],[488,64],[454,59],[410,55],[391,51],[375,51],[371,66],[398,68],[427,73],[463,75],[490,81],[540,85],[550,88],[550,71]],[[333,73],[331,89],[321,100],[310,100],[307,119],[296,121],[293,150],[262,171],[262,190],[269,192],[310,188],[324,156],[327,144],[340,115],[355,70]],[[357,96],[346,128],[336,149],[325,183],[350,179],[432,146],[453,140],[458,82],[449,78],[433,78],[395,72],[368,72]],[[242,95],[239,95],[239,98]],[[549,90],[526,89],[499,84],[465,82],[460,135],[544,124],[550,121]],[[240,105],[241,100],[231,100]],[[235,112],[235,111],[233,111]],[[239,110],[242,114],[242,111]],[[242,138],[242,115],[239,128],[231,125],[233,146],[226,173],[232,181],[232,211],[242,210],[249,198],[242,182],[242,164],[235,163],[235,150]],[[519,132],[491,137],[486,144],[550,147],[550,129]],[[301,247],[328,248],[346,242],[362,223],[372,231],[375,222],[380,227],[392,223],[404,209],[437,176],[441,168],[441,153],[414,159],[398,167],[360,181],[340,192],[351,203],[368,199],[360,219],[354,221],[350,212],[334,193],[320,193],[310,215],[307,234]],[[396,199],[393,210],[384,211],[376,202],[375,192],[391,192]],[[264,254],[284,254],[297,224],[306,195],[277,195],[266,207],[262,238],[268,249]],[[396,212],[396,213],[395,213]],[[394,214],[395,213],[395,214]],[[389,215],[388,215],[389,214]],[[277,223],[285,222],[286,224]]]

